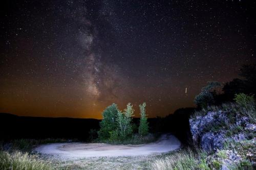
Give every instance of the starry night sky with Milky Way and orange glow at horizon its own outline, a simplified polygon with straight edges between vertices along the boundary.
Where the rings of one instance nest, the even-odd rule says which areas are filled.
[[[2,3],[0,112],[100,119],[146,102],[165,116],[256,60],[255,1]]]

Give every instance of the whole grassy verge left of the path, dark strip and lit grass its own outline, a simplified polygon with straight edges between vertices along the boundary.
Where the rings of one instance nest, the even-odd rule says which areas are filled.
[[[58,162],[41,159],[31,152],[38,144],[69,142],[67,139],[14,139],[8,142],[0,141],[0,169],[2,170],[37,170],[37,169],[72,169],[62,168]],[[74,141],[74,140],[72,140]]]

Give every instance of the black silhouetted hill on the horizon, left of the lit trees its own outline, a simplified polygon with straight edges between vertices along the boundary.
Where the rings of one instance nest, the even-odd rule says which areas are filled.
[[[17,116],[0,113],[0,138],[78,138],[85,140],[98,119]]]

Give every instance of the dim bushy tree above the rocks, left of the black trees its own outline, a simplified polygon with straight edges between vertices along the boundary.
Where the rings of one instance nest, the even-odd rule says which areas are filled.
[[[197,106],[201,108],[205,108],[209,105],[214,104],[214,95],[212,94],[212,90],[221,83],[219,82],[207,82],[207,85],[201,89],[201,92],[195,96],[194,102]]]

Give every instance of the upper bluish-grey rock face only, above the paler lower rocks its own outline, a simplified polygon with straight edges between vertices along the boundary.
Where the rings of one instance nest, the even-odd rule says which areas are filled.
[[[221,110],[209,111],[205,115],[190,118],[189,124],[193,141],[209,152],[223,149],[228,133],[231,134],[230,139],[245,140],[244,133],[236,133],[235,129],[238,127],[252,132],[256,131],[256,125],[249,123],[248,117],[238,113],[232,115]]]

